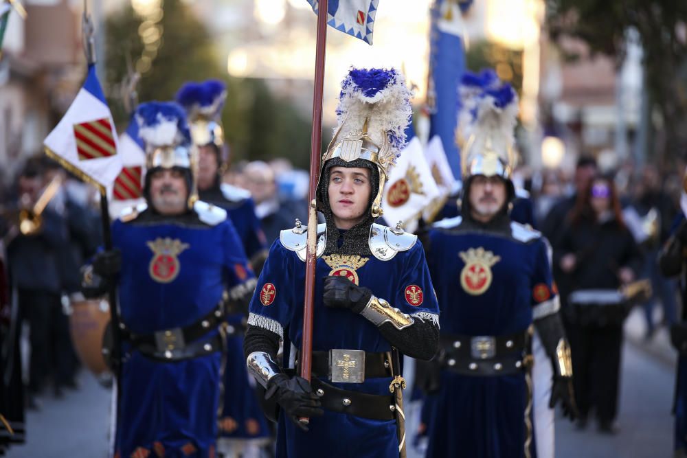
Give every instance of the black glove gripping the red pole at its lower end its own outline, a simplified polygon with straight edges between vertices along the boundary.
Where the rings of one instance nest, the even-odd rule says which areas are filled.
[[[321,417],[324,411],[320,408],[319,397],[313,392],[308,380],[294,376],[289,378],[286,374],[279,374],[267,382],[267,391],[264,398],[269,400],[276,396],[278,404],[284,409],[289,419],[303,431],[308,431],[308,426],[298,421],[300,417]]]

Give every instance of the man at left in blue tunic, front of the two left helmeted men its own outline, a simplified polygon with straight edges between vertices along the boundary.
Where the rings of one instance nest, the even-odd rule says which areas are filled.
[[[254,278],[226,211],[192,192],[181,106],[137,108],[146,144],[144,196],[112,225],[113,250],[85,270],[85,293],[113,283],[123,357],[115,456],[214,457],[226,288]]]

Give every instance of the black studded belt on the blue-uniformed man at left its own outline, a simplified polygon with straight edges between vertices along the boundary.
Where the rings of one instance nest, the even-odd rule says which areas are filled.
[[[135,334],[126,326],[122,338],[145,356],[156,360],[177,361],[204,356],[223,350],[223,335],[201,341],[203,336],[217,330],[223,323],[224,314],[217,307],[195,323],[183,328],[159,330],[152,334]]]

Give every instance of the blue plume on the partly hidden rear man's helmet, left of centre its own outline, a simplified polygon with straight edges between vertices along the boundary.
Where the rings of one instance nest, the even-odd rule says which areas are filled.
[[[187,82],[177,92],[177,102],[191,122],[197,118],[217,121],[226,100],[227,87],[219,80]]]

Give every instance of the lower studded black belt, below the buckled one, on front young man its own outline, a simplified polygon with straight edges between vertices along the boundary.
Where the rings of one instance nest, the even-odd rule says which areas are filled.
[[[396,418],[395,400],[392,395],[383,396],[339,389],[318,378],[313,378],[311,384],[322,402],[322,407],[328,411],[347,413],[369,420],[394,420]]]

